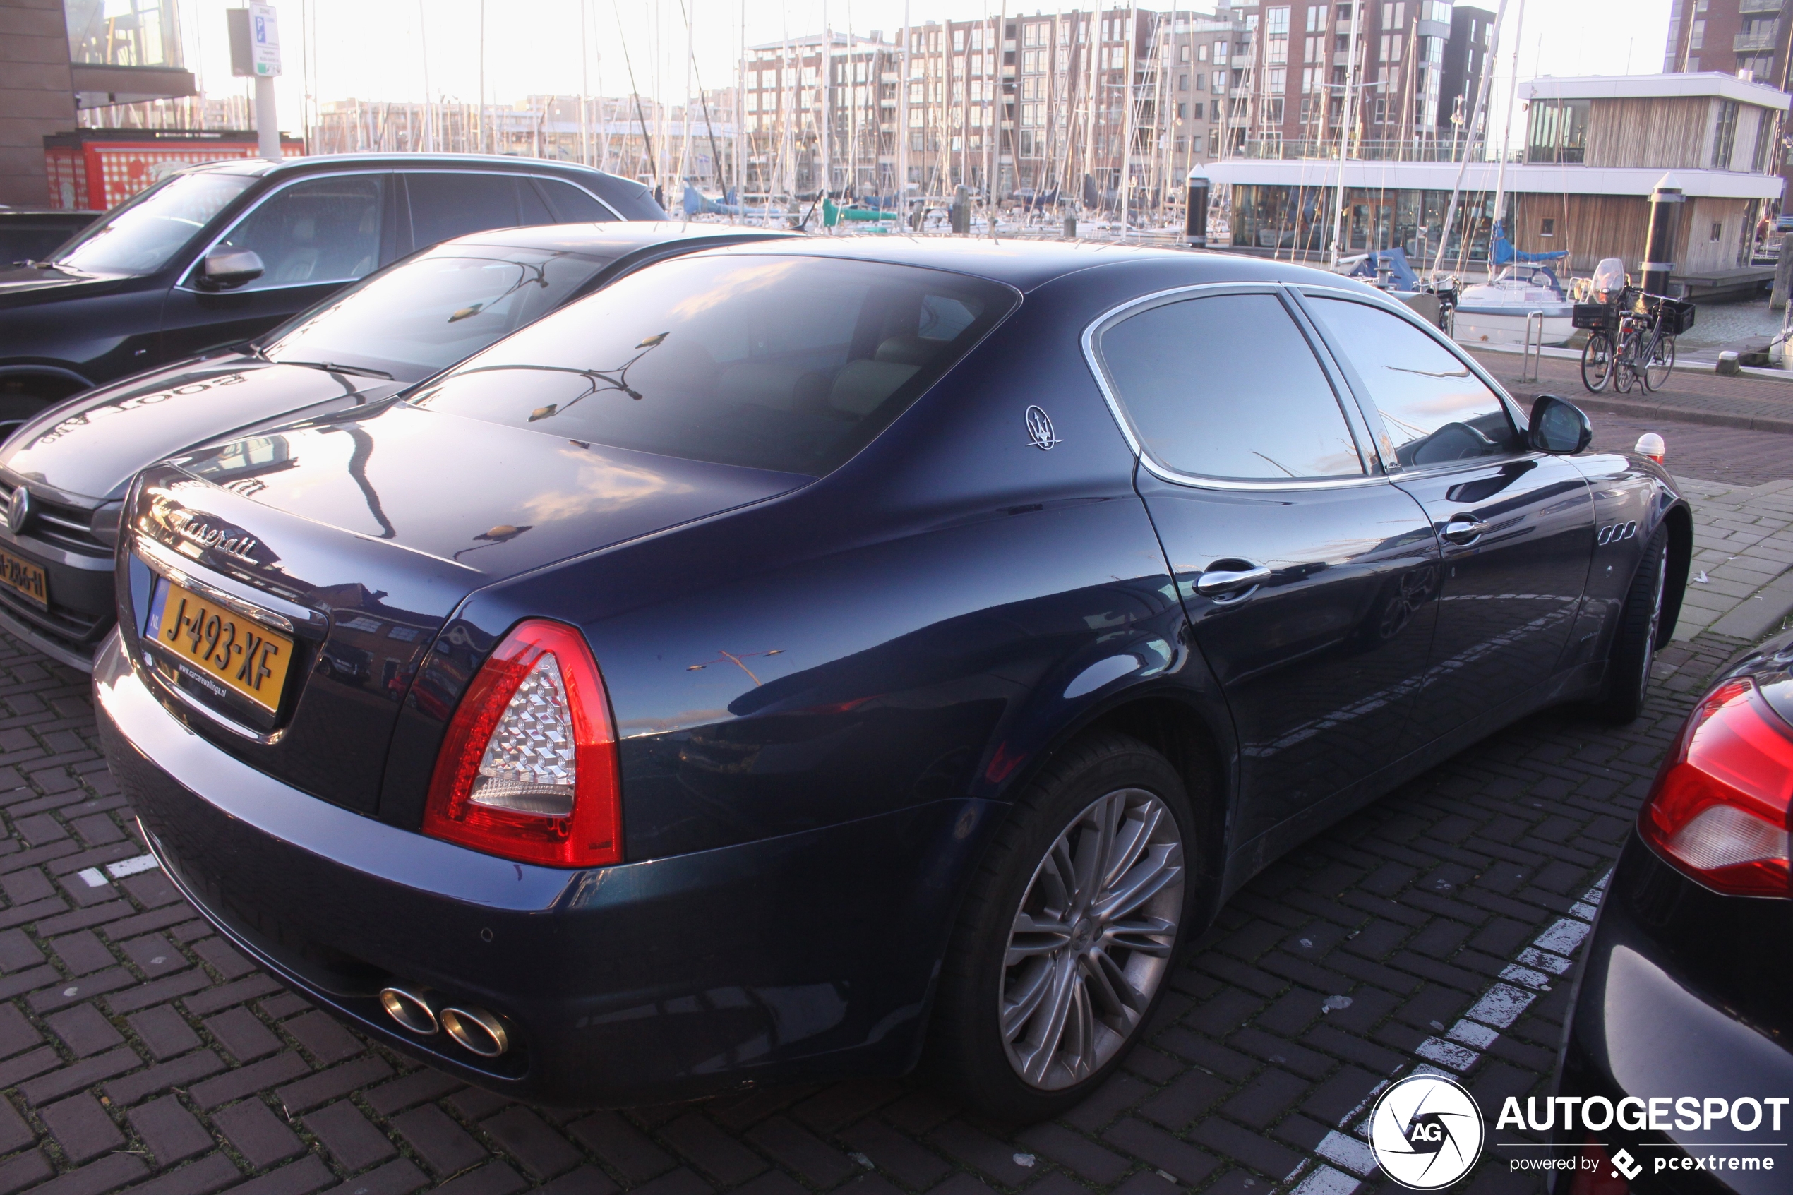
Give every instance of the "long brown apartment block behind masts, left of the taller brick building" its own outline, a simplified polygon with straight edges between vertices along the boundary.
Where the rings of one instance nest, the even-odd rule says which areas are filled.
[[[741,64],[749,192],[1155,202],[1225,152],[1248,52],[1241,9],[1128,7],[837,30],[749,47]],[[827,163],[827,167],[823,167]],[[1088,181],[1085,181],[1088,179]]]

